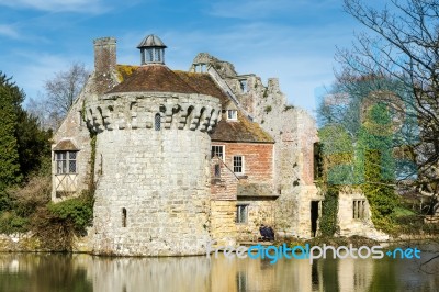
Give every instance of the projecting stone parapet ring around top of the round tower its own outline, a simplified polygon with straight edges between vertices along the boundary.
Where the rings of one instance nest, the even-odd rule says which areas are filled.
[[[87,101],[83,111],[87,126],[97,133],[157,127],[211,132],[221,119],[218,99],[196,93],[111,93]]]

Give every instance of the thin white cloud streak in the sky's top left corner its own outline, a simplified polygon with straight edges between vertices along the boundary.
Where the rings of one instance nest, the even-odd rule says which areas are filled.
[[[14,9],[35,9],[49,12],[90,12],[103,10],[101,0],[0,0],[0,5]]]

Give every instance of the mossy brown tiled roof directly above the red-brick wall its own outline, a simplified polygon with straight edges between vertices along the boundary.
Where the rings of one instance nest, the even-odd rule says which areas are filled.
[[[258,123],[251,122],[239,111],[238,121],[221,120],[211,134],[211,139],[217,142],[274,143],[273,138]]]

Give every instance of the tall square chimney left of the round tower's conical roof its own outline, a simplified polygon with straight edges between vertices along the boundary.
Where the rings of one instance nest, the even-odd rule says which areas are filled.
[[[104,93],[115,86],[113,72],[116,69],[116,38],[100,37],[93,44],[95,90]]]

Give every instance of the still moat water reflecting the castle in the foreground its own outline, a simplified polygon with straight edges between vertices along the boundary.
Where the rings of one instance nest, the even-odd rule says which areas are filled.
[[[439,291],[439,258],[228,259],[224,256],[122,258],[0,254],[0,291]]]

